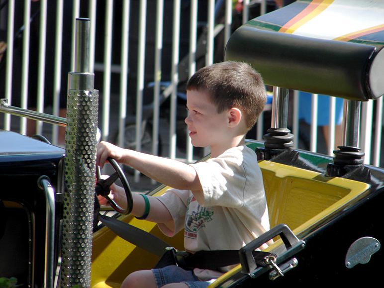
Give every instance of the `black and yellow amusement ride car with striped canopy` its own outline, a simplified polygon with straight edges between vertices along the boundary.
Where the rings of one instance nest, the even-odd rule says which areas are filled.
[[[70,73],[67,119],[22,112],[67,126],[66,149],[0,131],[0,277],[25,287],[53,287],[58,266],[61,287],[120,287],[130,272],[153,268],[165,247],[183,250],[183,233],[166,238],[116,205],[126,215],[96,224],[98,93],[84,60],[87,21],[78,22],[80,64]],[[265,142],[247,142],[258,155],[272,228],[240,249],[239,264],[210,288],[358,285],[380,277],[384,169],[363,163],[357,139],[361,101],[384,94],[383,46],[383,1],[298,0],[232,34],[226,60],[250,63],[274,86]],[[293,149],[288,89],[346,99],[335,157]],[[0,110],[21,114],[5,100]],[[263,251],[270,256],[255,257],[270,239]]]

